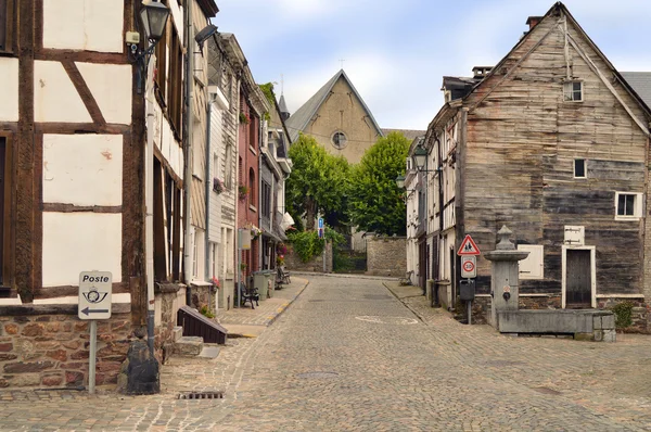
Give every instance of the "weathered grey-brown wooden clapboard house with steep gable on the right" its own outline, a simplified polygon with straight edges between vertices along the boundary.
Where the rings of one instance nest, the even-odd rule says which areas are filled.
[[[454,306],[457,250],[471,234],[495,249],[502,225],[518,247],[521,304],[603,307],[651,295],[644,263],[649,106],[560,2],[494,67],[445,77],[430,124],[427,278]],[[425,218],[423,218],[425,220]],[[426,254],[424,256],[427,256]],[[477,261],[489,303],[490,263]]]

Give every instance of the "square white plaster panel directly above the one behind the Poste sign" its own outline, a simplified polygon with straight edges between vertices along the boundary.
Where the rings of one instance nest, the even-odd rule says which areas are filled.
[[[122,135],[44,135],[43,202],[122,205]]]

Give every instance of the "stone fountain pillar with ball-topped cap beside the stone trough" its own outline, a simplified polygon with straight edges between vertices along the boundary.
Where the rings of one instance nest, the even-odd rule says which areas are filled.
[[[509,240],[512,231],[502,226],[497,232],[499,243],[495,251],[486,253],[493,263],[490,269],[490,325],[499,330],[498,312],[518,310],[519,274],[518,262],[526,258],[528,252],[518,251]]]

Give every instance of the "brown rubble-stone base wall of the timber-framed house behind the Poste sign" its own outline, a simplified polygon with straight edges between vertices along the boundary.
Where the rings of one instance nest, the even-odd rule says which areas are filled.
[[[77,387],[88,384],[90,321],[77,305],[0,307],[0,387]],[[114,304],[98,321],[98,385],[115,383],[129,348],[129,304]]]

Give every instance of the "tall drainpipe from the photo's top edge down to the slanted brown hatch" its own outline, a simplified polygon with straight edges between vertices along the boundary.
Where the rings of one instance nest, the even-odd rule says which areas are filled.
[[[194,27],[192,26],[192,3],[188,1],[186,3],[186,166],[183,173],[183,280],[186,282],[186,304],[190,306],[192,304],[192,292],[190,282],[192,281],[192,259],[191,253],[192,245],[190,244],[190,230],[192,226],[190,224],[190,202],[192,191],[192,105],[194,102]],[[196,241],[196,240],[195,240]]]

